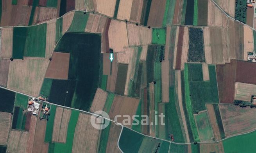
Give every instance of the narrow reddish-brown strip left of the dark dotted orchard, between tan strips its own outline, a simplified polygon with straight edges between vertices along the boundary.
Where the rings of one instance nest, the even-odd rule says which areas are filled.
[[[179,27],[179,37],[177,43],[177,54],[176,54],[176,64],[175,69],[181,70],[181,55],[182,55],[182,46],[183,46],[183,35],[184,27]]]

